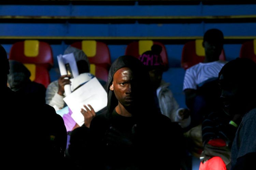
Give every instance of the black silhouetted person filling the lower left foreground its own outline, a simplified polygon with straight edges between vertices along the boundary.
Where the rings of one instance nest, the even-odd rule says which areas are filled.
[[[45,104],[43,96],[17,93],[7,87],[10,66],[2,46],[0,60],[3,162],[10,168],[62,167],[67,142],[62,118]],[[15,164],[10,164],[14,159]]]

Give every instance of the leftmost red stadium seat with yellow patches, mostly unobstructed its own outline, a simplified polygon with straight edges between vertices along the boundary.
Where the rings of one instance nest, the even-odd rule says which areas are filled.
[[[43,84],[50,83],[48,70],[53,66],[51,46],[38,40],[25,40],[11,47],[10,60],[23,63],[31,72],[30,80]]]

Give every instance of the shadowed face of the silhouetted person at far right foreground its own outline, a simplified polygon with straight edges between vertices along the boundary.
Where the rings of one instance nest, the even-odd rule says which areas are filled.
[[[227,81],[223,74],[219,77],[219,87],[221,88],[221,101],[226,114],[234,115],[241,112],[241,101],[239,88],[235,82]]]

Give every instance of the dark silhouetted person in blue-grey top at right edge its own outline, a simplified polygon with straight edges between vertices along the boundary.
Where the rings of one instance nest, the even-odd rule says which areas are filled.
[[[252,169],[256,158],[256,63],[237,58],[219,72],[221,100],[231,124],[238,126],[231,148],[231,170]],[[242,120],[241,120],[242,118]],[[241,122],[241,123],[240,123]]]

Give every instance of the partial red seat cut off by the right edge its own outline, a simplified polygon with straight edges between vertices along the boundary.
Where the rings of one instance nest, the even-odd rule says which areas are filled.
[[[250,58],[256,63],[256,39],[242,44],[240,58]]]

